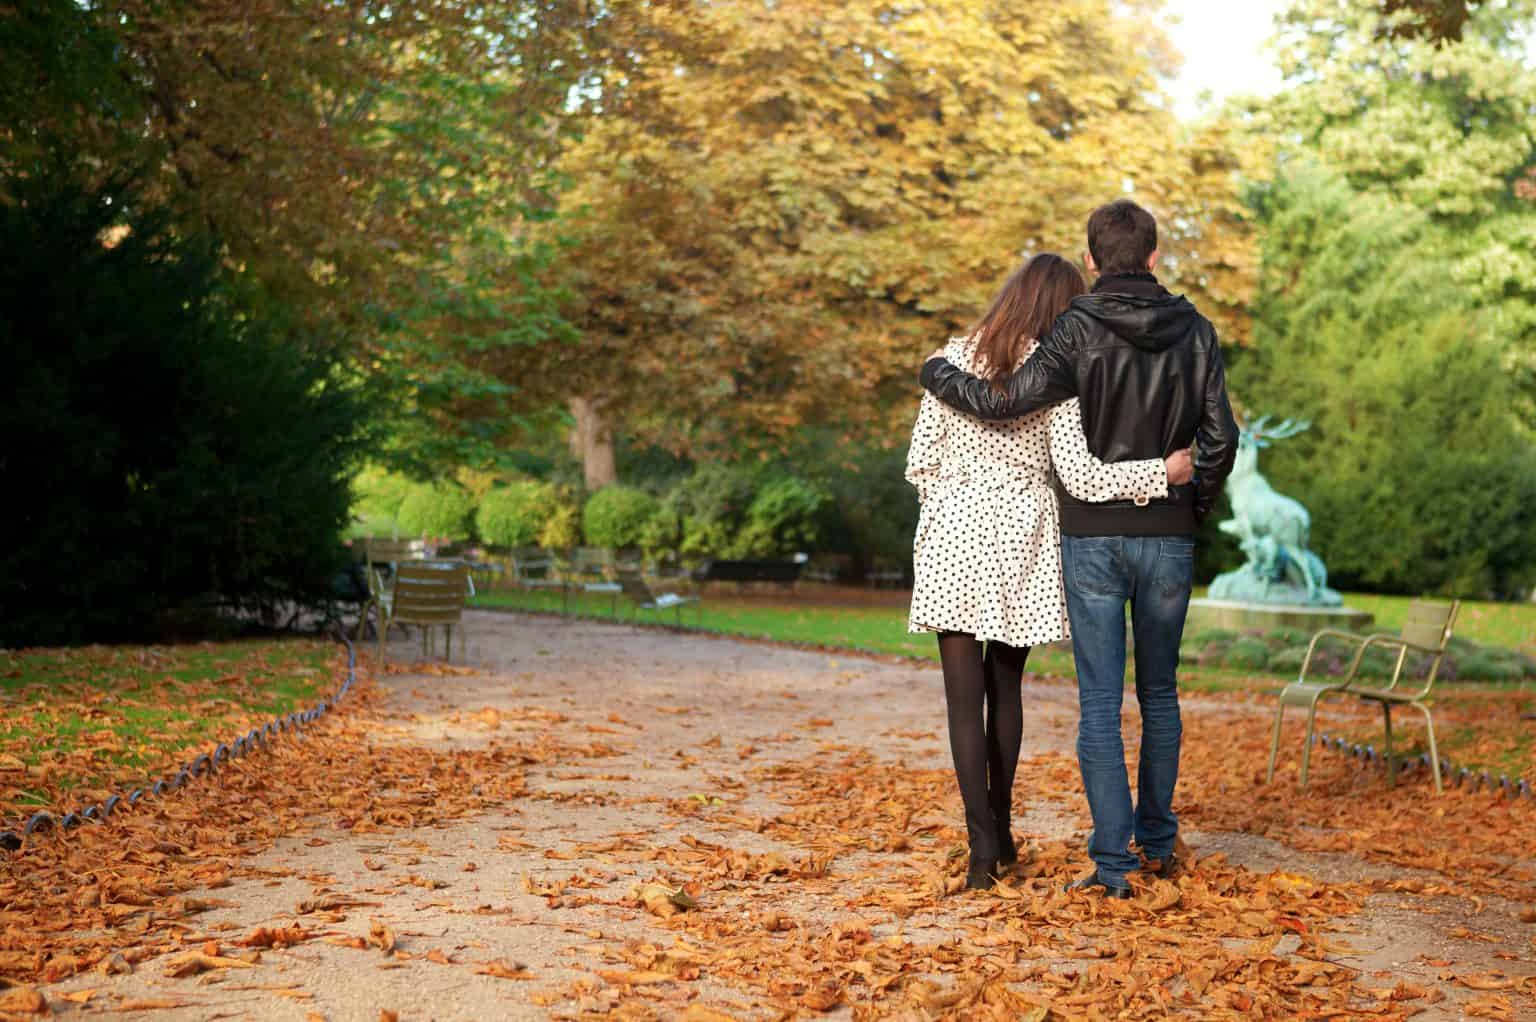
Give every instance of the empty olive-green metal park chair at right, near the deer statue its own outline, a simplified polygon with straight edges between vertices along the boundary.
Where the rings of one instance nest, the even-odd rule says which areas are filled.
[[[1307,645],[1307,656],[1301,661],[1301,676],[1279,693],[1279,707],[1275,710],[1275,735],[1269,747],[1267,781],[1275,779],[1275,759],[1279,756],[1279,724],[1286,716],[1286,707],[1307,708],[1307,738],[1301,747],[1301,784],[1306,784],[1307,770],[1312,764],[1312,733],[1318,715],[1318,701],[1327,695],[1346,695],[1381,704],[1382,724],[1387,730],[1387,779],[1392,784],[1398,782],[1398,761],[1392,752],[1392,707],[1410,705],[1424,715],[1424,725],[1428,728],[1430,770],[1435,773],[1435,793],[1439,795],[1442,787],[1439,750],[1435,745],[1435,718],[1430,716],[1430,707],[1425,704],[1425,699],[1428,699],[1430,690],[1435,687],[1435,678],[1439,675],[1441,662],[1445,659],[1445,649],[1450,645],[1452,627],[1456,624],[1458,610],[1461,610],[1459,599],[1453,599],[1448,604],[1416,599],[1409,606],[1409,616],[1402,622],[1402,632],[1398,635],[1356,635],[1336,629],[1324,629],[1313,635],[1312,644]],[[1318,641],[1324,638],[1353,644],[1355,656],[1350,659],[1341,679],[1307,681],[1307,669],[1312,665],[1312,656],[1318,650]],[[1359,667],[1366,658],[1366,650],[1373,645],[1398,652],[1396,664],[1392,669],[1392,679],[1385,685],[1372,684],[1359,678]],[[1407,662],[1410,650],[1427,653],[1432,658],[1428,675],[1419,682],[1404,681],[1402,678],[1402,665]]]

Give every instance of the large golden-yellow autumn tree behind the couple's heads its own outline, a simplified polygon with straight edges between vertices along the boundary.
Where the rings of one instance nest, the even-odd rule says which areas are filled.
[[[1127,181],[1166,214],[1175,284],[1210,283],[1200,201],[1233,194],[1232,160],[1215,137],[1169,144],[1138,11],[616,3],[596,37],[559,163],[581,337],[499,370],[579,403],[588,463],[614,433],[679,452],[805,423],[902,433],[920,357],[1023,251],[1080,252]]]

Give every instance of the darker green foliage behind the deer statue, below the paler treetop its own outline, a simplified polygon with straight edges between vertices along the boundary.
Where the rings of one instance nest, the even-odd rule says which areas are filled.
[[[1301,164],[1263,197],[1255,412],[1313,421],[1261,469],[1312,510],[1339,587],[1516,595],[1536,581],[1536,446],[1499,317],[1447,260],[1453,231]]]

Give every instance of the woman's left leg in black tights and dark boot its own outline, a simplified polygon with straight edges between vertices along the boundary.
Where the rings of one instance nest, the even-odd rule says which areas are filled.
[[[982,644],[965,632],[938,633],[938,662],[945,673],[945,708],[949,716],[949,752],[955,761],[965,828],[971,842],[971,879],[997,867],[997,822],[988,799],[986,681]]]

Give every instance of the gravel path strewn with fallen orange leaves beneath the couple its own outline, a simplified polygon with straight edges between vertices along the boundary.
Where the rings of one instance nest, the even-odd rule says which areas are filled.
[[[270,756],[0,862],[0,1017],[1536,1013],[1533,807],[1330,755],[1303,795],[1296,730],[1266,787],[1263,698],[1186,701],[1193,865],[1103,902],[1060,891],[1084,871],[1075,693],[1026,682],[1028,854],[978,894],[932,669],[511,615],[470,635],[473,670],[386,673]]]

